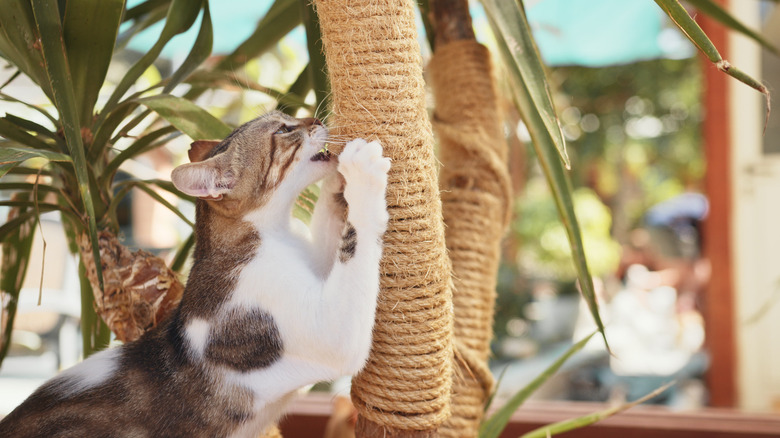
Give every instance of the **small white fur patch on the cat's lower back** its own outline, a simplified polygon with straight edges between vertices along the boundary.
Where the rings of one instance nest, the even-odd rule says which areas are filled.
[[[111,348],[95,353],[60,373],[51,383],[64,397],[98,386],[116,371],[120,352],[121,348]]]

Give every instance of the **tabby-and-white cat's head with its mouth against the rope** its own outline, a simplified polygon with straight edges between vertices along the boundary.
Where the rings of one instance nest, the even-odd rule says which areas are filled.
[[[222,141],[196,141],[191,163],[173,170],[182,192],[226,214],[261,207],[272,196],[290,197],[335,171],[325,150],[327,129],[313,118],[272,112],[239,126]],[[280,193],[281,192],[281,193]]]

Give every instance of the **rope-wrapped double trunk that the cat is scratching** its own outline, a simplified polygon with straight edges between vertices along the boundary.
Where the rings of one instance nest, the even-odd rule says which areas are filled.
[[[437,18],[460,11],[461,29],[470,29],[465,2],[455,3]],[[437,33],[440,194],[414,2],[315,5],[333,92],[329,123],[342,138],[379,140],[393,160],[374,346],[353,380],[357,436],[476,436],[492,387],[498,242],[510,205],[488,53],[470,30]]]

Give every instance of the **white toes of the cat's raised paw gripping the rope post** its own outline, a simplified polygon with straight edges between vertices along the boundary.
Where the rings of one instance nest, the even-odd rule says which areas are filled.
[[[384,191],[390,159],[382,156],[382,145],[379,142],[358,138],[344,147],[339,155],[338,169],[347,180],[347,185],[372,184]]]

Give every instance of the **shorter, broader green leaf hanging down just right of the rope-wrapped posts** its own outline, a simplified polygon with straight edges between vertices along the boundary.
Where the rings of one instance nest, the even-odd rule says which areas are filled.
[[[544,72],[539,51],[531,35],[531,27],[518,0],[482,0],[488,13],[496,38],[500,40],[503,51],[511,55],[505,57],[506,64],[514,81],[521,81],[528,90],[528,97],[539,119],[544,123],[548,136],[567,168],[571,166],[566,153],[566,141],[563,138],[558,116],[555,114],[552,95]]]

